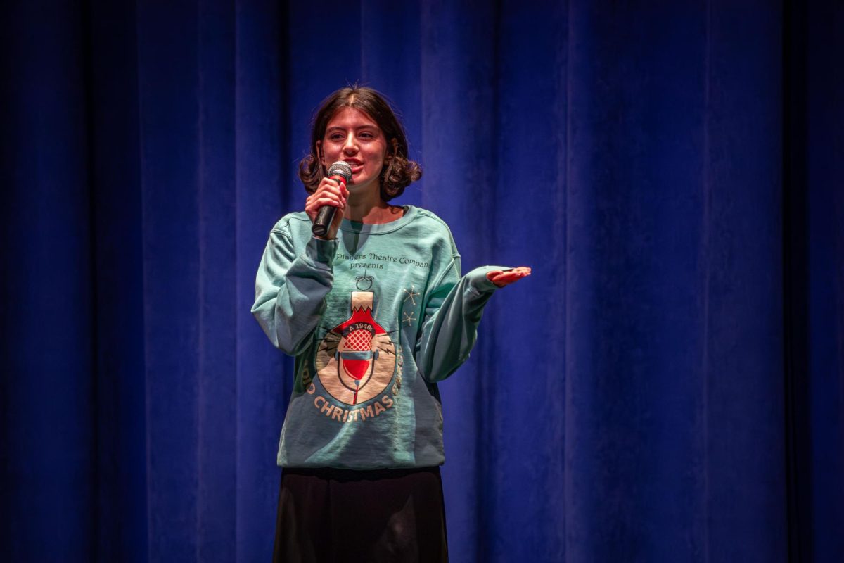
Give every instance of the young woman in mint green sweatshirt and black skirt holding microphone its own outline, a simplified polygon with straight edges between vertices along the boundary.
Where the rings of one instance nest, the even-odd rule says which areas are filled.
[[[327,177],[339,160],[348,185]],[[295,356],[275,560],[447,560],[436,383],[467,359],[493,292],[530,268],[462,277],[446,224],[390,203],[419,176],[383,96],[349,87],[322,103],[300,163],[305,212],[270,231],[252,306]],[[336,212],[320,238],[323,206]]]

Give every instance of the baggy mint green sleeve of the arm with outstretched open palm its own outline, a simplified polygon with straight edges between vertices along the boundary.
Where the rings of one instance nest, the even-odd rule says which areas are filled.
[[[460,276],[460,257],[441,275],[425,302],[425,322],[416,347],[416,365],[428,382],[438,382],[463,365],[478,338],[484,306],[498,286],[486,278],[500,266],[475,268]]]

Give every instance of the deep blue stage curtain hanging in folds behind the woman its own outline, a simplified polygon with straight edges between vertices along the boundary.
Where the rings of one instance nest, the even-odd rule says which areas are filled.
[[[269,559],[254,273],[354,81],[533,267],[441,384],[452,560],[844,560],[840,2],[8,4],[4,560]]]

